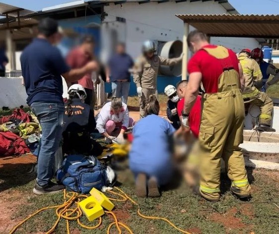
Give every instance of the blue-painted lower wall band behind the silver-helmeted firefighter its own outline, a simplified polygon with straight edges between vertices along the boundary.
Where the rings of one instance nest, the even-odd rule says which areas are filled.
[[[181,80],[181,76],[163,76],[159,75],[157,78],[157,90],[158,93],[164,93],[164,89],[167,85],[172,84],[176,86],[176,84]],[[105,92],[111,93],[111,83],[105,84]],[[131,76],[131,85],[130,85],[130,92],[129,96],[135,96],[137,95],[137,87],[136,84],[133,81],[133,76]]]

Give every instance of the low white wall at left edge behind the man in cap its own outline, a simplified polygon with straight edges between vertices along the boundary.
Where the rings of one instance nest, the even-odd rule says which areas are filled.
[[[21,78],[0,78],[0,108],[26,106],[27,94]]]

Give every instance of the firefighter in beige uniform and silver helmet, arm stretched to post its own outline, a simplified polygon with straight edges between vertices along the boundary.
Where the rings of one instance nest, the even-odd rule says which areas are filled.
[[[142,45],[142,55],[137,58],[133,71],[134,82],[137,85],[139,95],[140,117],[144,117],[141,103],[148,99],[150,95],[156,95],[159,65],[171,66],[182,60],[182,56],[179,58],[162,58],[154,55],[155,51],[155,43],[149,40],[145,41]]]

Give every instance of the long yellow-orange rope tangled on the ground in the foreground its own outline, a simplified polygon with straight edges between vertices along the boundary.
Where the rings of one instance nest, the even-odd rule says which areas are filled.
[[[118,193],[118,192],[111,191],[111,190],[108,190],[108,192],[113,194],[113,195],[121,197],[121,199],[109,198],[110,200],[120,201],[120,202],[124,202],[124,201],[130,200],[134,205],[139,207],[139,204],[136,201],[134,201],[131,197],[129,197],[123,190],[121,190],[118,187],[115,187],[115,189],[117,189],[122,194]],[[84,224],[82,224],[80,222],[80,217],[82,216],[82,211],[81,211],[81,209],[80,209],[80,207],[78,205],[78,202],[81,200],[81,198],[87,198],[87,197],[88,196],[86,196],[86,195],[82,195],[82,194],[79,195],[76,192],[68,192],[68,193],[66,193],[66,190],[64,190],[64,203],[62,205],[44,207],[44,208],[36,211],[35,213],[31,214],[28,218],[24,219],[19,224],[17,224],[10,231],[9,234],[13,234],[22,224],[24,224],[27,220],[29,220],[33,216],[39,214],[42,211],[45,211],[45,210],[48,210],[48,209],[54,209],[54,208],[56,208],[55,213],[57,215],[57,220],[56,220],[55,224],[53,225],[53,227],[46,234],[51,234],[51,233],[53,233],[55,231],[55,229],[56,229],[57,225],[59,224],[61,218],[66,220],[67,234],[70,234],[70,224],[69,224],[69,221],[73,221],[73,220],[76,220],[78,225],[80,227],[82,227],[82,228],[89,229],[89,230],[96,229],[96,228],[100,227],[101,224],[102,224],[102,218],[101,217],[99,217],[99,223],[97,225],[93,226],[93,227],[86,226],[86,225],[84,225]],[[70,208],[73,205],[75,206],[75,208]],[[126,229],[130,234],[133,234],[132,230],[128,226],[126,226],[125,224],[123,224],[121,222],[118,222],[118,219],[117,219],[116,215],[112,211],[105,211],[105,213],[107,215],[112,215],[113,218],[114,218],[114,222],[111,223],[108,226],[108,228],[107,228],[107,234],[110,234],[110,230],[113,227],[113,225],[116,226],[119,234],[122,234],[121,227]],[[165,221],[169,225],[171,225],[173,228],[178,230],[179,232],[184,233],[184,234],[190,234],[190,233],[188,233],[188,232],[186,232],[186,231],[176,227],[172,222],[170,222],[166,218],[156,217],[156,216],[154,216],[154,217],[153,216],[145,216],[145,215],[141,214],[140,213],[140,208],[138,208],[138,215],[141,218],[144,218],[144,219],[153,219],[153,220]]]

